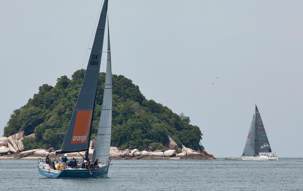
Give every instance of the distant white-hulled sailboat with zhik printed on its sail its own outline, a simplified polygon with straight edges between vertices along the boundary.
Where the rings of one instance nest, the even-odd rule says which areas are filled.
[[[242,160],[278,160],[273,155],[257,105],[242,154]]]

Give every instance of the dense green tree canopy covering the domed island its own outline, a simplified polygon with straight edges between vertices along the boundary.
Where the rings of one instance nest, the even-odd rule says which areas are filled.
[[[43,84],[28,103],[11,114],[4,128],[4,136],[24,130],[27,149],[61,148],[73,109],[81,88],[85,70],[77,70],[72,79],[62,76],[52,87]],[[185,145],[202,149],[202,133],[198,126],[191,125],[189,117],[175,114],[166,106],[147,100],[139,87],[122,75],[112,75],[112,138],[111,145],[121,148],[156,149],[168,146],[170,136],[179,147]],[[98,129],[101,114],[105,73],[99,74],[92,136]]]

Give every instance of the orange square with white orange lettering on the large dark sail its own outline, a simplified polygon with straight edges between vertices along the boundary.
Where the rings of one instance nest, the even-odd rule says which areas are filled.
[[[86,143],[88,139],[88,131],[91,126],[92,110],[77,111],[74,132],[71,144]]]

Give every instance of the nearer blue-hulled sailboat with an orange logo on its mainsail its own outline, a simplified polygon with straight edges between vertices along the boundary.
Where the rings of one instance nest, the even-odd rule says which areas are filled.
[[[70,120],[60,151],[55,154],[65,154],[71,152],[85,152],[83,161],[78,161],[76,167],[63,166],[62,169],[55,170],[52,165],[38,161],[38,170],[42,176],[50,178],[94,178],[107,176],[108,168],[111,165],[109,159],[111,124],[112,124],[112,69],[108,28],[108,53],[105,77],[105,90],[103,95],[102,111],[100,123],[95,142],[95,148],[92,156],[92,162],[96,159],[99,165],[91,169],[81,168],[82,164],[88,160],[89,142],[92,128],[92,118],[94,114],[95,98],[98,85],[98,76],[100,72],[102,47],[105,33],[105,23],[107,15],[108,1],[105,0],[102,6],[98,26],[95,33],[95,39],[92,51],[86,68],[85,76],[82,82],[80,93],[75,105],[75,109]],[[55,164],[55,167],[59,162]]]

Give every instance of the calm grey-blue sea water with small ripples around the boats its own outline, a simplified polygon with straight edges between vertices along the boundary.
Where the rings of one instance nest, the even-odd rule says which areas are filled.
[[[0,190],[303,190],[303,158],[112,163],[108,177],[50,179],[37,160],[0,160]]]

